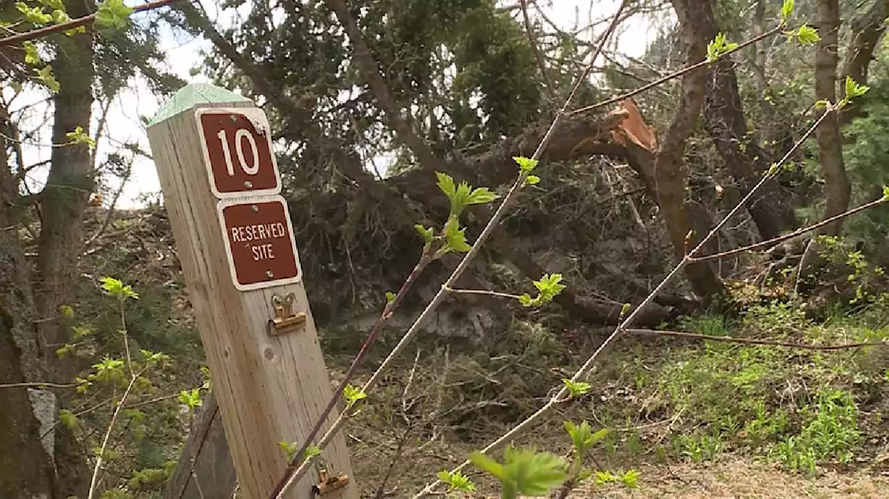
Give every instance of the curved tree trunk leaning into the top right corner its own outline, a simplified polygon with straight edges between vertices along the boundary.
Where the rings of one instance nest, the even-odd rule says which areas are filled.
[[[850,76],[856,83],[868,84],[870,61],[874,57],[880,37],[885,32],[886,18],[889,18],[889,0],[875,0],[867,12],[852,20],[852,44],[846,49],[843,62],[844,81],[845,76]],[[841,87],[840,91],[845,97],[845,86]],[[852,122],[859,115],[861,106],[853,102],[840,113],[840,125]]]

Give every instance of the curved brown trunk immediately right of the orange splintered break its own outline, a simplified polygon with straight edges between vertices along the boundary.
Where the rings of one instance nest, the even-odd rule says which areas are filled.
[[[686,63],[688,65],[698,63],[707,55],[707,43],[702,42],[700,36],[696,36],[693,26],[697,19],[705,15],[702,12],[702,5],[686,4],[685,0],[673,0],[673,5],[679,19],[682,39],[687,45]],[[676,257],[680,259],[685,257],[686,246],[693,246],[701,241],[703,235],[692,234],[686,242],[692,224],[685,206],[685,175],[682,167],[685,141],[694,132],[694,124],[701,113],[706,82],[707,70],[703,67],[690,71],[682,77],[682,92],[676,115],[673,116],[667,132],[660,141],[661,146],[654,162],[661,211]],[[709,299],[724,294],[722,282],[707,262],[687,265],[685,274],[698,296]]]

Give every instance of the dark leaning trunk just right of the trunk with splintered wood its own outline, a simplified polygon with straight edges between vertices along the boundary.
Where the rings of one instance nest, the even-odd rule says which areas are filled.
[[[680,0],[686,12],[697,9],[691,19],[693,36],[705,47],[720,32],[710,0]],[[757,138],[748,130],[744,104],[738,90],[738,78],[731,56],[723,56],[709,69],[704,92],[704,128],[717,147],[725,166],[747,194],[771,167],[769,155],[759,147]],[[757,191],[746,208],[763,239],[778,237],[796,226],[788,195],[782,194],[776,181],[769,180]]]

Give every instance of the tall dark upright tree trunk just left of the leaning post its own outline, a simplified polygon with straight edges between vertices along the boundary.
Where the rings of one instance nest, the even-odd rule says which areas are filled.
[[[68,0],[68,14],[79,18],[92,13],[84,2]],[[56,44],[59,56],[52,62],[53,73],[60,84],[60,91],[53,99],[54,116],[52,143],[70,142],[67,134],[78,126],[88,131],[92,117],[93,34],[91,28],[84,33],[54,35],[49,39]],[[85,144],[53,147],[51,167],[46,186],[41,193],[41,230],[38,242],[36,275],[19,276],[20,292],[28,289],[25,305],[32,314],[28,330],[14,338],[20,348],[20,366],[28,381],[70,383],[74,380],[77,366],[71,360],[60,360],[55,355],[58,345],[69,341],[68,330],[60,321],[60,305],[71,305],[74,300],[77,262],[83,244],[81,223],[86,202],[92,193],[93,165],[89,147]],[[17,186],[16,186],[17,189]],[[14,226],[18,226],[17,224]],[[17,268],[25,271],[27,265]],[[34,282],[33,288],[25,283]],[[33,303],[29,300],[33,297]],[[31,346],[33,345],[33,348]],[[39,372],[28,371],[39,369]],[[42,391],[32,397],[37,416],[58,417],[59,404],[68,399],[64,390],[54,393]],[[9,427],[0,428],[0,433]],[[72,432],[64,425],[56,425],[52,432],[52,445],[47,444],[55,467],[53,497],[85,497],[89,487],[90,470],[88,452],[81,448]],[[45,442],[44,442],[45,444]]]

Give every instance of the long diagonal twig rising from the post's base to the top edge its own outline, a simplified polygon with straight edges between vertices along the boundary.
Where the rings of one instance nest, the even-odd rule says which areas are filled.
[[[623,10],[627,7],[628,4],[629,4],[629,0],[623,0],[623,2],[621,2],[621,6],[618,8],[618,12],[614,15],[614,18],[613,18],[611,24],[608,26],[608,30],[605,32],[605,35],[602,36],[602,39],[600,40],[600,43],[597,46],[597,50],[595,51],[595,53],[593,54],[592,58],[589,61],[589,65],[583,69],[583,71],[581,72],[581,75],[577,78],[577,81],[574,82],[572,90],[569,92],[567,98],[565,99],[565,104],[562,106],[561,110],[557,113],[557,115],[553,119],[552,123],[550,123],[549,129],[547,130],[546,134],[544,134],[543,139],[541,139],[541,143],[538,145],[537,149],[534,151],[532,159],[539,160],[541,158],[541,155],[543,154],[543,151],[546,149],[547,146],[549,146],[549,141],[552,139],[553,134],[557,130],[559,123],[561,123],[562,119],[567,114],[568,108],[571,106],[571,103],[572,103],[574,97],[581,90],[581,87],[583,86],[583,84],[586,83],[587,76],[589,75],[589,72],[592,71],[593,65],[595,64],[596,59],[598,58],[599,54],[602,52],[603,48],[605,47],[605,42],[607,41],[608,37],[611,36],[613,34],[614,30],[617,28],[617,25],[618,25],[619,21],[621,20],[621,12],[623,12]],[[451,273],[451,276],[448,277],[447,281],[445,281],[445,283],[442,285],[442,288],[436,292],[435,297],[432,297],[432,300],[429,301],[428,305],[426,305],[426,308],[423,310],[422,313],[420,313],[420,317],[418,317],[417,320],[413,322],[410,329],[408,329],[408,331],[404,334],[404,337],[401,338],[401,341],[398,342],[398,345],[396,345],[396,347],[392,350],[392,352],[389,352],[386,359],[383,360],[382,364],[380,364],[380,367],[377,368],[376,371],[374,371],[371,378],[369,380],[367,380],[367,382],[364,384],[364,386],[362,387],[362,390],[365,393],[368,392],[370,390],[370,388],[379,381],[380,376],[382,376],[382,373],[384,373],[392,365],[392,363],[395,362],[396,358],[401,354],[401,352],[404,351],[404,349],[407,347],[407,345],[410,344],[413,337],[415,337],[419,333],[420,326],[428,320],[428,318],[432,315],[432,313],[435,312],[438,305],[441,305],[441,303],[445,300],[445,296],[447,295],[447,289],[452,288],[453,284],[460,279],[463,272],[469,267],[469,264],[472,262],[473,258],[475,258],[476,255],[478,254],[479,249],[481,249],[482,246],[485,244],[488,237],[490,237],[490,235],[493,233],[495,227],[497,227],[500,224],[500,221],[503,218],[504,214],[506,213],[506,210],[509,208],[510,202],[516,198],[517,193],[521,190],[522,186],[525,185],[525,178],[527,178],[527,176],[529,174],[530,174],[529,171],[522,172],[516,178],[516,181],[513,183],[513,185],[511,187],[509,187],[509,192],[503,197],[501,204],[497,207],[497,210],[494,211],[493,215],[488,220],[488,223],[485,226],[485,228],[482,230],[482,233],[478,235],[478,238],[477,238],[475,244],[473,244],[472,248],[469,249],[469,251],[463,256],[463,258],[461,259],[461,262],[453,270],[453,273]],[[330,429],[328,429],[327,432],[324,433],[324,436],[321,438],[321,440],[317,442],[317,446],[322,449],[324,447],[326,447],[330,443],[330,441],[333,439],[333,436],[336,435],[337,432],[340,431],[340,428],[345,423],[345,420],[347,418],[348,418],[348,411],[347,410],[340,412],[340,416],[336,419],[336,421],[333,422]],[[316,427],[320,426],[320,424],[322,424],[323,421],[324,421],[324,416],[318,420]],[[304,442],[304,444],[303,444],[303,447],[307,447],[307,446],[308,446],[308,441]],[[303,457],[303,454],[304,454],[304,451],[301,451],[297,455],[295,455],[294,461],[301,459]],[[292,475],[289,477],[289,479],[287,479],[287,482],[284,485],[284,487],[281,488],[277,494],[270,495],[269,499],[282,499],[284,497],[284,493],[290,487],[292,487],[292,485],[294,483],[296,483],[296,480],[300,479],[300,477],[302,475],[304,475],[306,473],[306,471],[308,471],[309,466],[311,466],[311,464],[314,463],[316,458],[317,458],[317,455],[314,455],[314,456],[310,457],[309,459],[303,460],[302,463],[300,463],[299,468],[297,468],[295,471],[292,471]]]

